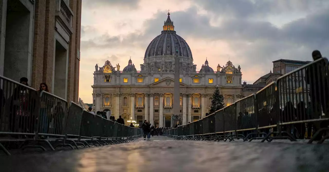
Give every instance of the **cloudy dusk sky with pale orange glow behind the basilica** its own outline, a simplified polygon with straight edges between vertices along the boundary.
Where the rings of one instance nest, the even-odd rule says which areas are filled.
[[[278,59],[329,54],[329,0],[83,0],[79,97],[92,102],[93,71],[106,60],[138,67],[167,18],[199,70],[230,61],[252,84]]]

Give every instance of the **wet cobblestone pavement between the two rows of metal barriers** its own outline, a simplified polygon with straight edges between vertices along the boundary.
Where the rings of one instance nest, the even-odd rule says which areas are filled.
[[[328,171],[329,144],[150,141],[0,157],[0,171]]]

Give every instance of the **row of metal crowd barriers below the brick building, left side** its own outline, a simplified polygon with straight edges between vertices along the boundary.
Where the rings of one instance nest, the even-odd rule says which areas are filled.
[[[60,97],[0,76],[0,149],[7,155],[17,142],[23,149],[74,149],[129,142],[141,135],[139,128],[91,114],[74,102],[68,106]]]

